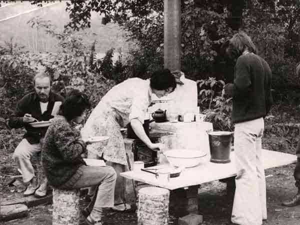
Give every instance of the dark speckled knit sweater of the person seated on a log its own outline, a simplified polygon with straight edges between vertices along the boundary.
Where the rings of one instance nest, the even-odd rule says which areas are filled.
[[[79,138],[79,131],[63,116],[48,127],[42,145],[42,165],[52,186],[61,186],[85,165],[80,154],[86,151],[86,144]]]

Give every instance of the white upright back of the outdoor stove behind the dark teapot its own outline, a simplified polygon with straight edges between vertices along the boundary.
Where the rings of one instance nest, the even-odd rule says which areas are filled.
[[[175,90],[169,93],[166,98],[171,98],[170,102],[156,103],[149,107],[149,111],[153,112],[158,108],[166,109],[170,113],[183,114],[184,112],[199,113],[197,108],[197,84],[191,79],[187,79],[182,75],[180,80],[184,83],[183,85],[177,84]],[[157,100],[158,98],[152,94],[152,99]],[[159,100],[163,100],[163,97]]]

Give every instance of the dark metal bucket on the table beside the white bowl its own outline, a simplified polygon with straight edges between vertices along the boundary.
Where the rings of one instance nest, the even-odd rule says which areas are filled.
[[[230,162],[231,140],[233,132],[210,131],[208,133],[210,161],[215,163]]]

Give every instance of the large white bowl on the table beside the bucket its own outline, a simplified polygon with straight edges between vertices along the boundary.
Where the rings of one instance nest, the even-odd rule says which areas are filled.
[[[178,167],[193,167],[201,163],[205,152],[190,149],[171,149],[164,152],[170,164]]]

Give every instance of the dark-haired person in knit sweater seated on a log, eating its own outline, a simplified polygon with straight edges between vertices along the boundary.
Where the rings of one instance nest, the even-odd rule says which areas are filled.
[[[84,119],[89,107],[85,94],[78,90],[70,92],[45,134],[42,164],[48,182],[55,188],[97,186],[97,192],[83,212],[88,224],[99,225],[102,224],[102,208],[113,206],[116,173],[110,166],[88,166],[81,157],[88,142],[80,138],[73,126]]]

